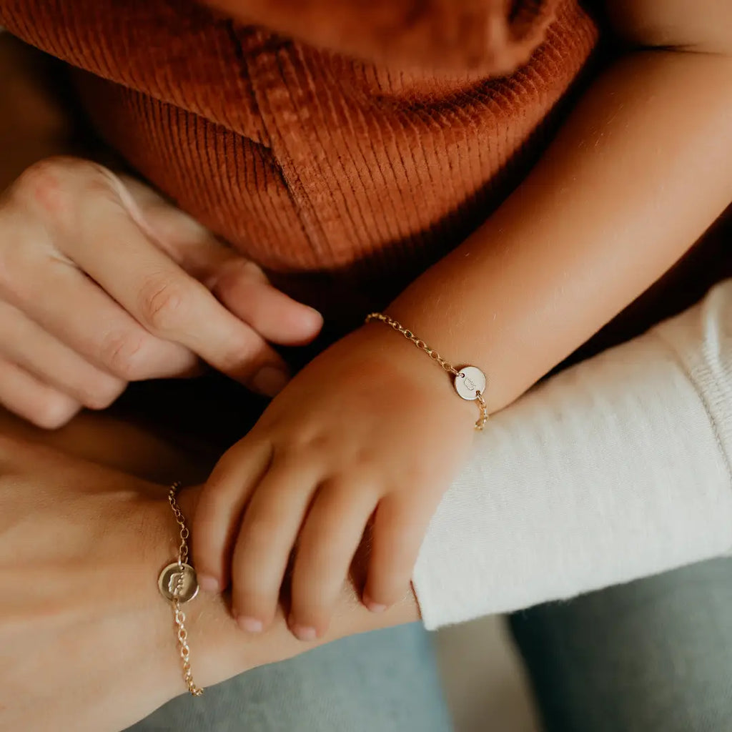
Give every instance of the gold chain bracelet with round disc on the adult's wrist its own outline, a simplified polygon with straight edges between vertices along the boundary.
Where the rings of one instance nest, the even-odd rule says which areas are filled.
[[[195,576],[195,569],[187,564],[190,532],[185,524],[183,512],[178,505],[178,501],[176,501],[180,487],[181,484],[175,482],[171,485],[171,490],[168,491],[168,503],[171,504],[173,516],[175,516],[176,523],[180,527],[181,545],[178,548],[178,561],[168,564],[160,572],[160,577],[157,578],[157,587],[165,600],[173,605],[173,619],[177,628],[178,647],[183,663],[183,680],[191,695],[201,696],[203,689],[195,685],[193,673],[190,670],[188,631],[185,627],[185,613],[181,608],[181,605],[190,602],[198,594],[198,578]]]

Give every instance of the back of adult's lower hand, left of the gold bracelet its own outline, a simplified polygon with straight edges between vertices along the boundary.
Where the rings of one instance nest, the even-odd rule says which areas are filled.
[[[175,525],[154,493],[0,436],[0,732],[118,730],[183,690],[155,597]]]

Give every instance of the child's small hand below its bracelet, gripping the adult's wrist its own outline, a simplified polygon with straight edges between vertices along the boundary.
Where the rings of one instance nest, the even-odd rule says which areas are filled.
[[[466,458],[474,404],[449,375],[384,326],[318,356],[228,450],[203,490],[193,557],[252,632],[274,618],[291,551],[292,632],[324,634],[372,515],[363,601],[406,594],[427,523]]]

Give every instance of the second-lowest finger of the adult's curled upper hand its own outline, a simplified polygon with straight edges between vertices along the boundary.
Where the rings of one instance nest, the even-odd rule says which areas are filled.
[[[0,302],[0,355],[91,409],[108,407],[127,386],[5,302]]]

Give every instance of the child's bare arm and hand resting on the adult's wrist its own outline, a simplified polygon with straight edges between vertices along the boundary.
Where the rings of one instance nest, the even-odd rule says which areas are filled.
[[[732,57],[713,25],[727,11],[722,0],[706,5],[695,37],[703,51],[627,53],[498,212],[389,307],[443,356],[488,373],[490,411],[608,323],[730,203]],[[659,27],[673,31],[664,6],[619,6],[619,28],[657,42]],[[684,4],[674,22],[687,15],[704,12]],[[231,577],[240,624],[260,630],[294,550],[291,630],[318,638],[373,514],[363,600],[388,607],[408,588],[419,539],[463,460],[471,408],[392,330],[371,324],[348,336],[214,470],[195,517],[206,583]]]

